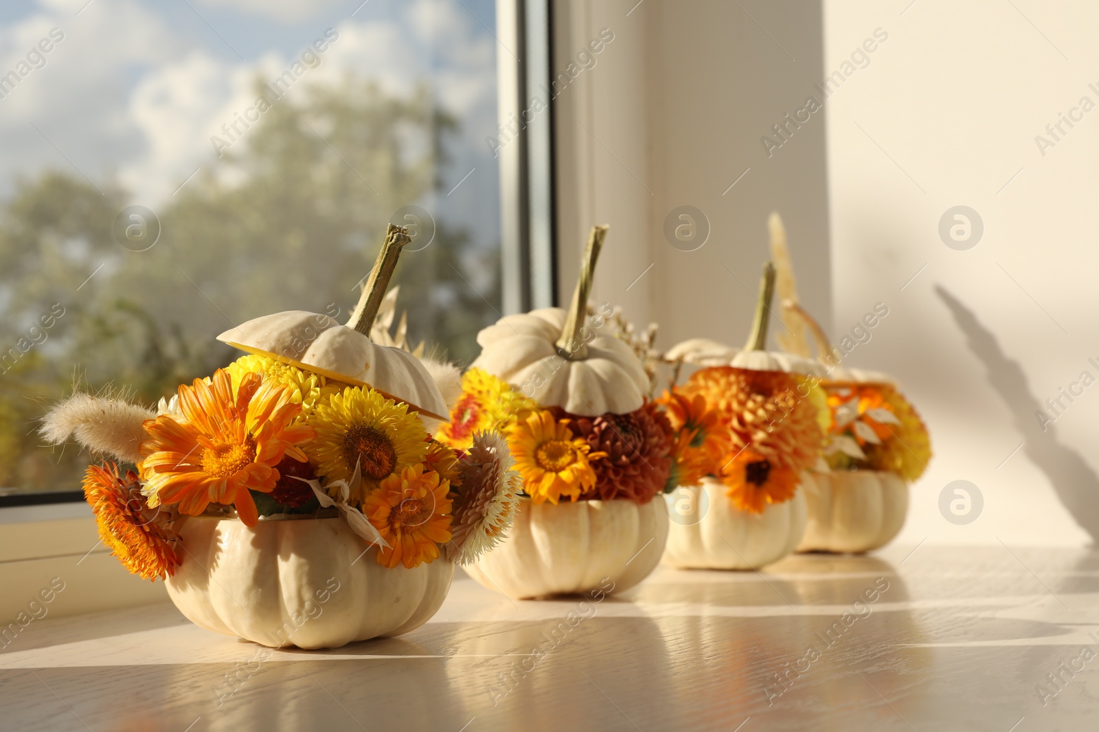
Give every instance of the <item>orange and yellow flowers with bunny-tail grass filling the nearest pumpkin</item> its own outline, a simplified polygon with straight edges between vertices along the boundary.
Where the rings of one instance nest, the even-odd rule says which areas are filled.
[[[252,353],[156,412],[77,394],[41,432],[134,465],[91,465],[84,491],[102,542],[151,581],[187,560],[179,529],[192,516],[248,527],[342,516],[386,567],[468,563],[504,536],[520,484],[487,424],[455,450],[410,404],[320,371]]]

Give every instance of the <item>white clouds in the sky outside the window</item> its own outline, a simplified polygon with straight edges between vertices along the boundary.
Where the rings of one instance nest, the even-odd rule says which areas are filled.
[[[303,4],[233,3],[285,18]],[[155,207],[199,166],[218,172],[210,138],[224,136],[222,125],[255,101],[256,76],[282,74],[324,31],[302,32],[293,55],[269,50],[245,63],[181,36],[134,0],[96,0],[78,18],[71,5],[48,0],[41,12],[0,27],[0,74],[51,27],[65,33],[47,65],[0,100],[0,135],[12,140],[0,158],[0,193],[10,192],[19,172],[74,172],[75,166],[97,184],[115,174],[135,202]],[[463,121],[466,143],[458,147],[484,147],[496,126],[496,42],[458,0],[415,0],[396,19],[348,19],[336,31],[338,40],[295,85],[291,99],[311,85],[337,83],[348,71],[392,94],[430,79],[442,106]]]

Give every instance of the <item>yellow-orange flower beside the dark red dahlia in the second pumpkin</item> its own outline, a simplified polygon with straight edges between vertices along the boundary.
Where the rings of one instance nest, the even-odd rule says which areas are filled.
[[[573,500],[596,485],[596,472],[588,460],[604,458],[593,452],[581,437],[575,437],[567,419],[555,419],[545,409],[518,421],[508,430],[508,447],[523,488],[536,504],[556,504],[562,496]]]

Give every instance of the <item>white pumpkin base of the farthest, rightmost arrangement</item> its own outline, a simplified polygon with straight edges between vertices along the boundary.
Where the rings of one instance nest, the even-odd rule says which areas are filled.
[[[817,473],[802,484],[809,508],[799,552],[868,552],[892,541],[908,514],[908,484],[873,470]]]

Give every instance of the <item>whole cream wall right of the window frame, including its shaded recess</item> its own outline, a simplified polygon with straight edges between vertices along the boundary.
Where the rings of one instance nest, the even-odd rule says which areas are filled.
[[[1083,370],[1099,378],[1087,362],[1099,363],[1089,238],[1099,109],[1044,157],[1034,136],[1081,95],[1099,103],[1088,88],[1099,89],[1088,71],[1099,68],[1089,37],[1099,8],[635,2],[555,3],[559,59],[601,27],[615,34],[558,99],[562,300],[587,227],[610,223],[597,299],[659,320],[664,346],[739,344],[753,299],[729,270],[755,286],[766,216],[778,210],[802,300],[836,339],[875,303],[890,308],[851,363],[899,376],[931,427],[935,457],[898,541],[1088,541],[1080,523],[1099,531],[1099,386],[1050,431],[1033,410]],[[868,65],[824,100],[814,85],[879,27],[888,38],[869,44]],[[823,112],[768,157],[759,138],[809,95]],[[698,251],[662,232],[681,204],[710,219]],[[963,251],[937,233],[958,204],[986,228]],[[985,498],[968,526],[939,509],[954,480]]]

